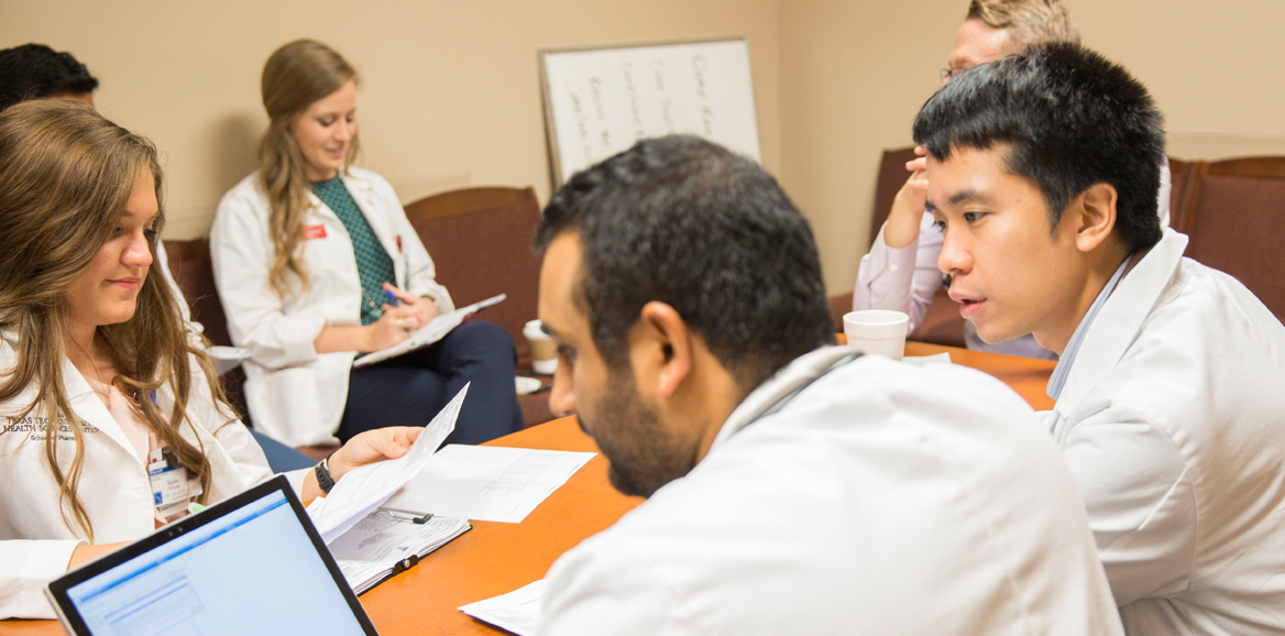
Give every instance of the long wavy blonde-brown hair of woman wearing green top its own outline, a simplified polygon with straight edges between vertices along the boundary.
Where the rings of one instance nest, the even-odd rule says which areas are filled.
[[[290,127],[314,102],[339,90],[348,80],[357,81],[357,72],[335,53],[316,40],[296,40],[267,58],[263,64],[263,108],[269,125],[258,145],[258,175],[267,193],[269,231],[276,256],[269,283],[281,298],[292,289],[292,278],[303,289],[308,275],[301,261],[303,216],[310,185],[303,176],[303,155]],[[344,154],[344,166],[352,164],[360,152],[356,132]]]

